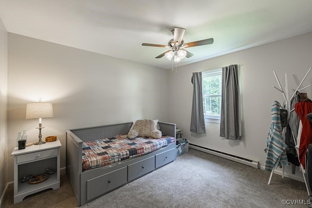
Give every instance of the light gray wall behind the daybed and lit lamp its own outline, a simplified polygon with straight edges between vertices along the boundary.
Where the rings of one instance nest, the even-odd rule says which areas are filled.
[[[57,135],[65,167],[65,130],[151,118],[167,121],[168,72],[16,34],[8,35],[8,180],[18,132],[38,141],[38,119],[25,119],[27,102],[52,102],[42,138]]]

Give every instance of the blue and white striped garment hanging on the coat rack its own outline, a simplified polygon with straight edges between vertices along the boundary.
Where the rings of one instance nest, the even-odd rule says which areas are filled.
[[[287,145],[285,144],[282,136],[282,125],[280,119],[281,104],[274,101],[271,107],[272,124],[269,129],[267,138],[267,156],[265,161],[264,170],[272,171],[278,163],[280,167],[288,166],[286,155]]]

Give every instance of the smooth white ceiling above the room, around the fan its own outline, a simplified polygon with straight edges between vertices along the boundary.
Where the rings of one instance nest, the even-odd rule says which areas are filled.
[[[171,69],[166,48],[174,27],[188,48],[178,66],[312,31],[312,0],[0,0],[10,33]]]

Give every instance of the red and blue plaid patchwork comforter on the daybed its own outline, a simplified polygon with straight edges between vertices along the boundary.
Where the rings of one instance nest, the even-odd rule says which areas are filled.
[[[148,154],[175,142],[175,137],[170,136],[162,136],[160,139],[136,137],[130,140],[126,134],[83,142],[82,170],[94,169]]]

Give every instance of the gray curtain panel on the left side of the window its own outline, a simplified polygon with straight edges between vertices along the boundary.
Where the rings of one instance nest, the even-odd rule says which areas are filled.
[[[203,92],[201,85],[201,72],[195,72],[192,76],[193,104],[191,115],[191,132],[206,133],[203,107]]]

